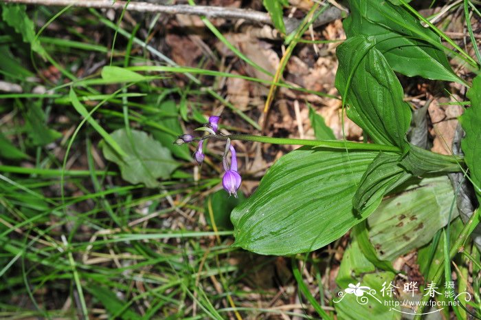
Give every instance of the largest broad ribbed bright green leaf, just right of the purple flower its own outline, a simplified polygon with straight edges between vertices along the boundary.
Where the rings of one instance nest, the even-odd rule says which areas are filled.
[[[353,196],[377,152],[301,148],[282,156],[246,202],[232,211],[236,246],[265,255],[315,250],[366,219]]]

